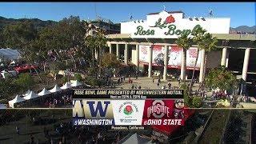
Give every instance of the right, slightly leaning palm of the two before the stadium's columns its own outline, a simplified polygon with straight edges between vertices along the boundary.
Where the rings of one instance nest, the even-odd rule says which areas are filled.
[[[199,26],[196,30],[194,30],[194,33],[192,34],[194,36],[193,42],[198,44],[198,48],[197,48],[197,52],[196,52],[197,58],[195,59],[193,74],[192,74],[192,78],[191,78],[191,81],[190,81],[190,89],[189,89],[189,94],[190,95],[191,95],[191,92],[192,92],[192,87],[194,85],[194,72],[195,72],[195,67],[197,66],[197,63],[198,63],[199,50],[202,49],[200,47],[202,45],[200,42],[202,42],[202,37],[205,33],[206,33],[206,30],[203,30],[202,27]]]

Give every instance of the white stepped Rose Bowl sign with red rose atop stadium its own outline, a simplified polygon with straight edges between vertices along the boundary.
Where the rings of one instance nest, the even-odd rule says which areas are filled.
[[[184,18],[182,13],[147,15],[146,21],[121,23],[121,34],[131,38],[178,38],[181,34],[193,34],[202,26],[210,34],[229,34],[230,18]]]

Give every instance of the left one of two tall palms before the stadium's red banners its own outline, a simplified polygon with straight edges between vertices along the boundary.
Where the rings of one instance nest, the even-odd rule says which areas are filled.
[[[182,48],[183,50],[183,56],[182,56],[182,75],[183,75],[183,82],[184,84],[186,84],[186,50],[188,50],[190,48],[190,46],[192,46],[192,39],[188,38],[188,34],[183,33],[181,35],[181,37],[179,37],[175,43]]]

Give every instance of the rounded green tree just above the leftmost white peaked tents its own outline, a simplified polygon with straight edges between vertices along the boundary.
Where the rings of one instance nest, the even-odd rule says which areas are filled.
[[[30,74],[19,74],[18,78],[14,80],[14,83],[21,91],[26,91],[34,86],[34,79]]]

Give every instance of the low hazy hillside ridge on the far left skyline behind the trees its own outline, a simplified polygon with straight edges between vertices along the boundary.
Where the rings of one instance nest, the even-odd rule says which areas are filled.
[[[33,22],[34,25],[40,29],[42,27],[46,27],[46,26],[51,26],[56,24],[57,22],[54,21],[42,21],[38,18],[19,18],[19,19],[14,19],[14,18],[4,18],[0,16],[0,29],[2,29],[4,26],[8,25],[8,24],[15,24],[17,22],[24,22],[24,21],[30,21]]]

